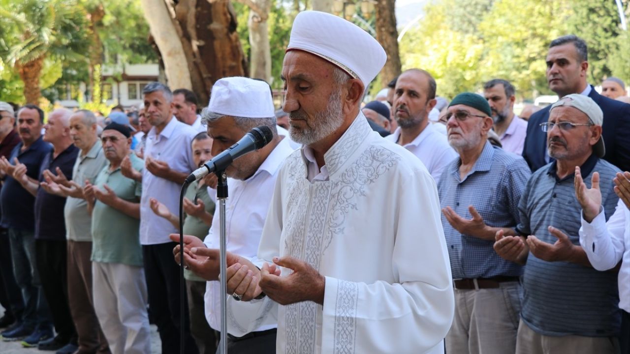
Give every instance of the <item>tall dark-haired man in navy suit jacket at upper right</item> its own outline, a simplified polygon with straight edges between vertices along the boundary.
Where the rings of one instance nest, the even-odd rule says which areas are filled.
[[[630,105],[611,100],[595,91],[587,83],[588,50],[587,44],[575,35],[556,38],[549,44],[546,57],[547,83],[549,89],[564,97],[567,94],[581,94],[592,98],[602,109],[602,137],[606,144],[606,161],[628,171],[630,169]],[[553,156],[547,154],[545,134],[540,123],[549,119],[551,106],[533,113],[527,125],[527,136],[523,157],[533,171],[550,163]]]

